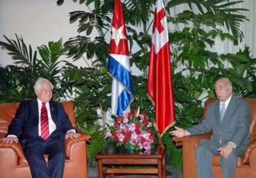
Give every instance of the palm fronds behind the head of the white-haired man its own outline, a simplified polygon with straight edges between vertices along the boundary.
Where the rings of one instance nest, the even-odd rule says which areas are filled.
[[[2,49],[8,51],[15,65],[0,67],[0,102],[20,102],[34,98],[33,86],[39,77],[45,77],[54,85],[54,99],[63,98],[67,90],[72,87],[66,85],[61,77],[65,68],[59,67],[62,41],[50,41],[48,46],[38,47],[42,59],[37,59],[37,51],[33,52],[31,46],[27,47],[22,37],[10,40],[8,43],[0,41]]]

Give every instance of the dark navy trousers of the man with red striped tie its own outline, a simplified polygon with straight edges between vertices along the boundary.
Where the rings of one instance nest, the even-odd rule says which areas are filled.
[[[47,140],[30,140],[23,146],[33,178],[62,178],[66,158],[63,141],[49,137]],[[48,154],[46,165],[44,154]]]

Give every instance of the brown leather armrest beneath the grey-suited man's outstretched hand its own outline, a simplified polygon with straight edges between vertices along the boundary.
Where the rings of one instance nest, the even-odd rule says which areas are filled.
[[[200,144],[200,140],[202,138],[204,139],[210,139],[211,134],[203,134],[203,135],[189,135],[181,138],[173,137],[173,141],[176,142],[176,146],[181,146],[183,144],[183,141],[188,141],[192,143],[195,147],[197,147]]]

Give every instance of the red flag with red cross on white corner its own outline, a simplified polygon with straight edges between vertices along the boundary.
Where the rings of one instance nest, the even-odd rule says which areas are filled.
[[[147,89],[155,105],[155,128],[162,137],[175,123],[168,29],[162,0],[155,5],[152,31]]]

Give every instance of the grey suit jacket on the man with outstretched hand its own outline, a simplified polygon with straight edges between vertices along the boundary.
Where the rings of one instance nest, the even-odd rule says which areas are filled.
[[[245,150],[250,141],[251,111],[248,102],[232,95],[222,122],[220,122],[219,104],[219,101],[215,101],[209,105],[202,123],[192,126],[187,131],[191,135],[198,135],[212,130],[211,140],[219,142],[221,139],[222,144],[232,141],[237,145],[237,148]]]

